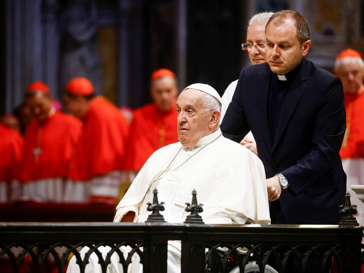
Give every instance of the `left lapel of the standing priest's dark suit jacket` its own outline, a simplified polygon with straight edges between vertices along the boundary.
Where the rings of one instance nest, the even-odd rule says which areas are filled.
[[[262,71],[261,80],[259,80],[256,86],[257,90],[256,102],[258,105],[257,116],[259,117],[262,134],[264,136],[269,152],[272,151],[273,140],[269,129],[267,102],[268,102],[270,78],[272,77],[272,74],[273,73],[267,64]]]

